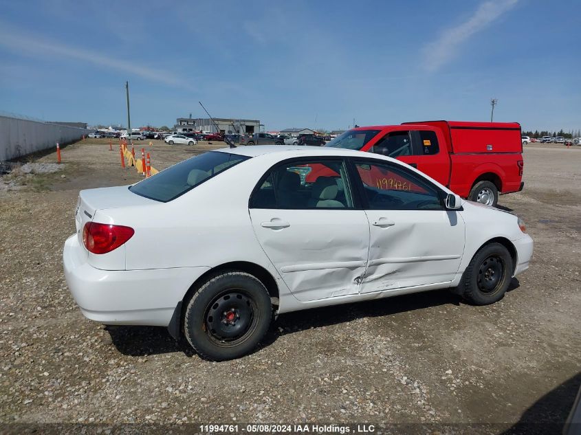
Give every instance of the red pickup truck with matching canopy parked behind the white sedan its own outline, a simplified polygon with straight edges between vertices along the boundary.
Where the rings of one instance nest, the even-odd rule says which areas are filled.
[[[461,197],[496,205],[523,190],[518,122],[404,122],[357,127],[325,146],[370,151],[404,161]]]

